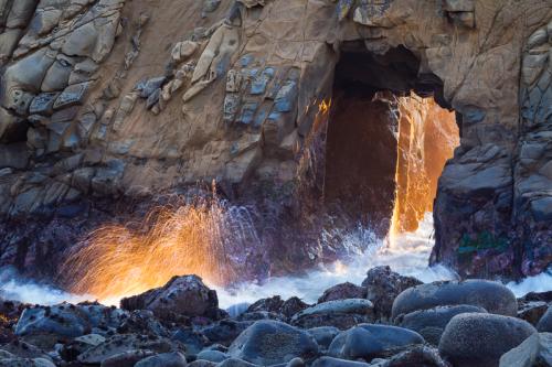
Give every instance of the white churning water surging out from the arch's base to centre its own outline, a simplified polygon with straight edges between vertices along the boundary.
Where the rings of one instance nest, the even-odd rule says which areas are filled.
[[[280,295],[283,299],[299,296],[307,303],[314,303],[323,291],[332,285],[351,282],[362,283],[369,269],[378,266],[390,266],[392,270],[420,279],[423,282],[452,280],[457,276],[443,267],[428,267],[428,258],[433,247],[433,220],[428,213],[415,233],[396,237],[394,246],[388,246],[385,239],[379,239],[368,228],[358,227],[343,238],[348,248],[363,248],[362,252],[349,261],[340,260],[332,265],[320,266],[299,277],[270,278],[263,283],[242,283],[230,289],[217,288],[221,306],[227,307],[238,303],[252,303],[258,299]],[[369,244],[365,241],[370,240]]]

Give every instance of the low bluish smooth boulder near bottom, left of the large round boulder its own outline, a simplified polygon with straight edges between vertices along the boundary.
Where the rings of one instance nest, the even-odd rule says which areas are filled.
[[[370,360],[385,356],[390,350],[423,343],[425,341],[420,334],[407,328],[362,324],[336,336],[328,354],[336,358]]]

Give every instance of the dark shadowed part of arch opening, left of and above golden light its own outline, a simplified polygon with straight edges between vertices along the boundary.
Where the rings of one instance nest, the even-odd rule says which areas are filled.
[[[342,45],[336,67],[332,110],[326,136],[323,202],[347,223],[389,233],[396,193],[400,112],[393,96],[433,97],[449,109],[443,82],[418,74],[420,60],[404,46],[384,55],[364,43]]]

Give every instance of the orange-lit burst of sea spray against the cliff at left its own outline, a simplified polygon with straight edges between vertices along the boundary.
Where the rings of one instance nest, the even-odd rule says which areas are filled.
[[[109,303],[163,285],[176,274],[194,273],[223,285],[236,276],[231,248],[256,236],[246,228],[250,219],[213,197],[158,208],[138,229],[99,228],[65,263],[74,277],[71,291]]]

